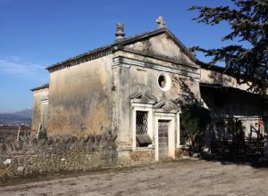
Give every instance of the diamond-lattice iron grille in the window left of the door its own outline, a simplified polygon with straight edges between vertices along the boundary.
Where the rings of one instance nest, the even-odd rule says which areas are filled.
[[[148,112],[136,111],[136,135],[147,135]]]

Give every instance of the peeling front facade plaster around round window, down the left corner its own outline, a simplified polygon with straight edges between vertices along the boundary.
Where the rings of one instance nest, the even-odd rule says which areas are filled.
[[[138,45],[138,43],[136,44]],[[141,44],[142,47],[142,44]],[[177,46],[176,46],[177,47]],[[175,50],[175,49],[174,49]],[[161,61],[133,53],[114,53],[114,57],[124,56],[138,61],[150,61],[163,67],[182,69],[188,73],[199,74],[197,68],[190,68],[185,65],[178,65],[169,61]],[[123,63],[122,63],[123,64]],[[188,94],[191,99],[200,100],[199,82],[188,76],[182,76],[171,72],[166,72],[172,79],[171,89],[163,92],[158,86],[158,77],[161,71],[152,67],[140,67],[137,65],[121,66],[113,68],[113,78],[116,97],[115,115],[118,119],[119,134],[117,142],[121,146],[132,144],[132,127],[131,127],[131,108],[130,95],[137,92],[151,92],[158,102],[164,99],[176,101],[182,96]]]

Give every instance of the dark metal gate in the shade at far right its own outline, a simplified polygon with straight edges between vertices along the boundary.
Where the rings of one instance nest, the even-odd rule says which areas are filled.
[[[234,159],[264,157],[264,117],[213,118],[211,152]]]

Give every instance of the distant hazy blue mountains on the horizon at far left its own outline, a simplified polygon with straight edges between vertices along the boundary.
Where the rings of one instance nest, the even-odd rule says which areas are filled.
[[[1,124],[28,124],[31,123],[31,109],[16,111],[13,113],[0,113]]]

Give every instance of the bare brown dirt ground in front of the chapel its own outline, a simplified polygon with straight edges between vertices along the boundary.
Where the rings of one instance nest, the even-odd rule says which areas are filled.
[[[0,187],[0,195],[268,195],[268,168],[180,160]]]

